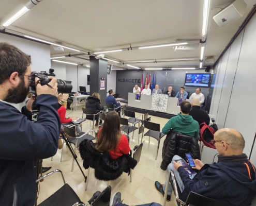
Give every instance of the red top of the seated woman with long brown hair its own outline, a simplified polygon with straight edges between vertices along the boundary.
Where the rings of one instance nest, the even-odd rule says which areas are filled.
[[[100,132],[101,132],[101,129],[99,129],[99,132],[97,134],[97,139],[99,139]],[[126,135],[122,134],[122,138],[117,143],[116,152],[115,152],[115,150],[111,150],[111,151],[109,151],[109,153],[110,153],[112,159],[117,159],[123,155],[128,155],[130,150],[131,150],[131,148],[129,146],[128,139],[127,139]]]

